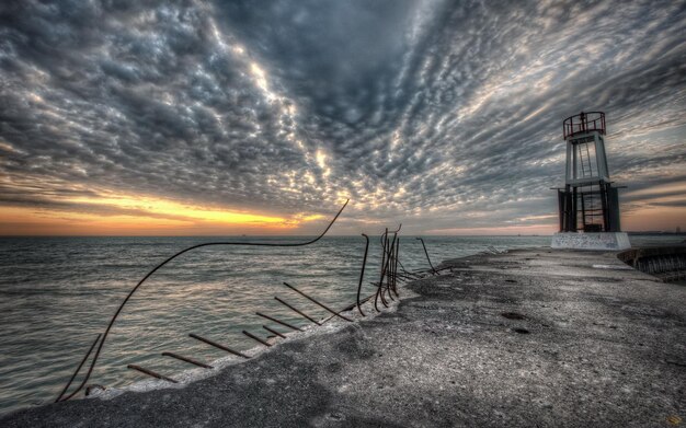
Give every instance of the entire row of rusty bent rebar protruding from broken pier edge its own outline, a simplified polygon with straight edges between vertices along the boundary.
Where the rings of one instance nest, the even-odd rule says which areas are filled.
[[[345,209],[345,207],[347,206],[350,200],[346,200],[345,204],[343,205],[343,207],[341,207],[341,209],[338,211],[338,213],[333,217],[333,219],[329,222],[329,225],[323,230],[323,232],[321,234],[319,234],[317,238],[310,240],[310,241],[305,241],[305,242],[287,242],[287,243],[262,243],[262,242],[208,242],[208,243],[203,243],[203,244],[197,244],[197,245],[193,245],[190,246],[187,248],[184,248],[175,254],[173,254],[172,256],[168,257],[167,259],[164,259],[162,263],[158,264],[157,266],[155,266],[142,279],[140,279],[140,281],[138,281],[138,284],[128,292],[128,294],[124,298],[124,300],[122,301],[122,303],[118,305],[116,312],[114,313],[114,315],[110,319],[110,322],[105,328],[105,331],[101,334],[99,334],[95,337],[95,340],[92,343],[92,345],[90,346],[90,348],[88,349],[85,356],[81,359],[81,361],[79,362],[76,371],[73,372],[73,374],[71,375],[71,378],[69,379],[69,381],[67,382],[67,384],[65,385],[65,387],[61,390],[60,394],[57,396],[57,398],[55,400],[55,402],[64,402],[64,401],[68,401],[75,396],[77,396],[77,394],[81,391],[84,391],[85,395],[89,395],[91,391],[93,390],[105,390],[105,386],[100,385],[100,384],[95,384],[95,383],[90,383],[89,384],[89,380],[93,373],[93,369],[96,367],[98,363],[98,359],[101,355],[102,348],[105,344],[105,340],[107,339],[107,336],[112,329],[112,326],[114,325],[115,321],[117,320],[118,315],[121,314],[122,310],[124,309],[124,306],[126,305],[126,303],[129,301],[129,299],[132,298],[132,296],[144,285],[144,282],[146,282],[146,280],[148,278],[150,278],[150,276],[152,276],[156,271],[158,271],[160,268],[162,268],[164,265],[167,265],[169,262],[171,262],[172,259],[179,257],[180,255],[187,253],[192,250],[195,248],[199,248],[199,247],[205,247],[205,246],[214,246],[214,245],[235,245],[235,246],[266,246],[266,247],[295,247],[295,246],[306,246],[306,245],[310,245],[316,243],[317,241],[319,241],[321,238],[323,238],[327,232],[331,229],[331,227],[335,223],[335,221],[338,220],[338,218],[341,216],[341,213],[343,212],[343,210]],[[282,305],[284,305],[285,308],[287,308],[289,311],[298,314],[298,316],[300,316],[302,320],[307,320],[308,323],[311,323],[316,326],[321,326],[322,324],[327,323],[330,320],[333,319],[340,319],[344,322],[353,322],[353,320],[351,319],[350,314],[346,314],[350,311],[353,310],[357,310],[357,312],[359,312],[359,314],[362,316],[367,316],[367,314],[364,313],[363,311],[363,304],[369,301],[374,301],[373,308],[374,311],[376,312],[381,312],[381,310],[384,308],[389,308],[390,302],[399,300],[400,299],[400,293],[398,292],[398,285],[402,281],[408,281],[408,280],[414,280],[414,279],[420,279],[425,277],[426,275],[437,275],[438,270],[436,270],[433,266],[433,264],[431,263],[431,258],[428,256],[428,252],[426,250],[426,245],[424,244],[424,241],[421,238],[418,238],[418,240],[420,240],[422,242],[422,246],[424,248],[424,254],[426,255],[426,261],[428,263],[428,268],[427,269],[420,269],[420,270],[413,270],[413,271],[409,271],[404,268],[404,266],[402,265],[402,263],[400,262],[399,258],[399,254],[400,254],[400,229],[401,225],[398,227],[397,230],[395,231],[389,231],[388,229],[386,229],[384,231],[384,233],[380,235],[380,244],[381,244],[381,264],[380,264],[380,271],[379,271],[379,279],[378,281],[371,281],[369,282],[369,285],[371,285],[375,288],[375,292],[371,293],[370,296],[367,297],[363,297],[362,294],[362,289],[363,289],[363,285],[364,282],[364,278],[365,278],[365,268],[366,268],[366,264],[367,264],[367,255],[369,253],[369,236],[366,234],[362,234],[362,236],[365,239],[365,251],[364,251],[364,257],[363,257],[363,262],[362,262],[362,267],[361,267],[361,271],[359,271],[359,281],[357,284],[357,292],[356,292],[356,301],[353,302],[352,304],[347,305],[346,308],[342,309],[342,310],[335,310],[330,308],[328,304],[323,303],[322,301],[320,301],[318,298],[305,293],[304,291],[301,291],[298,287],[290,285],[288,282],[283,282],[283,285],[285,287],[287,287],[290,291],[293,291],[294,293],[297,293],[304,298],[306,298],[307,300],[309,300],[313,305],[317,305],[321,309],[323,309],[324,311],[327,311],[329,313],[329,316],[324,320],[320,320],[318,321],[317,319],[310,316],[307,314],[307,309],[304,308],[296,308],[293,303],[287,302],[284,299],[281,299],[278,297],[274,297],[274,300],[276,300],[278,303],[281,303]],[[242,331],[242,334],[245,337],[249,337],[251,340],[254,340],[256,344],[260,344],[264,347],[271,347],[273,346],[278,339],[285,339],[287,337],[287,334],[293,333],[293,332],[301,332],[302,328],[293,325],[284,320],[279,320],[274,315],[270,315],[270,314],[265,314],[262,312],[255,312],[255,315],[265,320],[265,325],[262,325],[262,328],[267,333],[266,336],[261,336],[260,334],[255,333],[255,332],[249,332],[249,331]],[[279,329],[282,329],[279,332]],[[286,332],[283,332],[284,329],[286,329]],[[264,333],[263,333],[264,334]],[[216,339],[213,338],[208,338],[205,337],[203,335],[199,334],[195,334],[195,333],[190,333],[188,337],[198,340],[209,347],[219,349],[221,351],[225,351],[227,354],[233,355],[236,357],[239,358],[243,358],[243,359],[250,359],[251,357],[245,355],[244,352],[242,352],[239,349],[236,349],[227,344],[221,344],[219,342],[216,342]],[[93,352],[94,350],[94,352]],[[163,351],[161,352],[162,357],[167,357],[167,358],[173,358],[175,360],[179,361],[183,361],[185,363],[188,363],[191,366],[195,366],[198,368],[203,368],[203,369],[214,369],[214,367],[211,367],[210,365],[207,365],[205,362],[199,361],[198,359],[192,357],[192,356],[187,356],[187,355],[181,355],[181,354],[176,354],[176,352],[171,352],[171,351]],[[90,363],[87,365],[87,362],[89,361],[90,358]],[[83,374],[83,370],[84,367],[88,367],[88,369],[85,370],[85,373]],[[142,373],[147,377],[151,377],[151,378],[156,378],[156,379],[160,379],[163,381],[168,381],[171,383],[178,383],[178,380],[170,378],[168,375],[164,374],[160,374],[149,368],[145,368],[145,367],[140,367],[137,365],[127,365],[126,366],[127,369],[130,370],[135,370],[139,373]],[[82,374],[82,380],[81,382],[78,384],[78,386],[73,387],[71,392],[69,392],[70,387],[72,386],[72,384],[75,383],[75,380]]]

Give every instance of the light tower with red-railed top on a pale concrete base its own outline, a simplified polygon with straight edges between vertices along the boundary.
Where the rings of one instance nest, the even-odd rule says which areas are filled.
[[[564,188],[558,188],[560,232],[553,248],[625,250],[629,236],[619,225],[619,197],[605,154],[605,114],[580,113],[562,123],[567,141]]]

